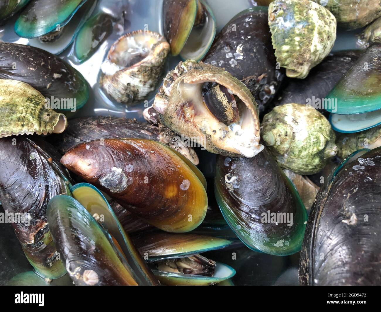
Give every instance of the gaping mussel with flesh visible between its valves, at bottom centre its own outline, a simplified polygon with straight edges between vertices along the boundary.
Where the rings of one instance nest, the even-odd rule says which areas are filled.
[[[133,242],[163,285],[210,285],[235,274],[232,267],[200,255],[231,244],[223,238],[153,232],[137,235]]]

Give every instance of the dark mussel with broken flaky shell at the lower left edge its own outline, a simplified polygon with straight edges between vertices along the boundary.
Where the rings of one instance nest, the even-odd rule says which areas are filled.
[[[0,201],[13,215],[22,249],[38,274],[59,278],[66,270],[51,237],[46,206],[55,195],[70,194],[67,170],[53,147],[38,138],[2,138],[0,156]]]

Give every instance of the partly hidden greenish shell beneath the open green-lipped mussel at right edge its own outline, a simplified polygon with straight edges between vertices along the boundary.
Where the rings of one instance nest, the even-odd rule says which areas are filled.
[[[336,133],[336,145],[341,159],[359,149],[375,149],[381,146],[381,126],[357,133]]]

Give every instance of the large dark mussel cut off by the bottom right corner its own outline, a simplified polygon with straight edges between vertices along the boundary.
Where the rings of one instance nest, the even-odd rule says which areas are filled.
[[[302,285],[381,283],[381,147],[354,154],[332,171],[311,209],[299,264]]]

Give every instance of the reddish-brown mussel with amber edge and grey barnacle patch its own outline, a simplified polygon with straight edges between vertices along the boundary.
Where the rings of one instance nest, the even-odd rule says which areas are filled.
[[[202,173],[160,142],[95,140],[70,149],[61,163],[162,230],[188,232],[205,217],[208,200]]]

